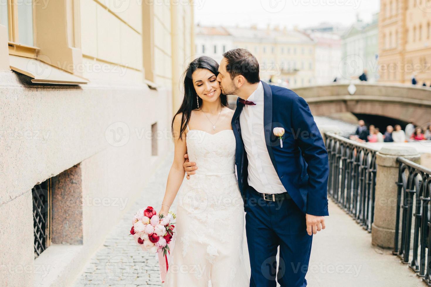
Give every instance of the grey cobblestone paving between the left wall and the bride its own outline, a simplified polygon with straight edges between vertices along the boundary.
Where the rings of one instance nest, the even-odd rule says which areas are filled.
[[[155,174],[151,176],[141,198],[137,198],[131,209],[125,212],[121,222],[112,228],[103,246],[92,256],[83,273],[72,286],[144,287],[161,285],[159,261],[156,254],[142,251],[134,243],[132,236],[128,234],[131,228],[131,218],[138,209],[144,205],[154,208],[158,208],[160,205],[172,158],[173,152],[167,154],[159,166],[155,167]]]

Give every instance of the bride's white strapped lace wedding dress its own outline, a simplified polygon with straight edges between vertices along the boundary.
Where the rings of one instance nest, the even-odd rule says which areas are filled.
[[[248,287],[234,133],[187,130],[187,154],[198,169],[177,194],[177,234],[164,286]]]

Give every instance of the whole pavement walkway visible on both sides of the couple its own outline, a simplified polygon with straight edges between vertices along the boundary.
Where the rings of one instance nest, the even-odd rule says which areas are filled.
[[[128,235],[131,217],[141,207],[159,208],[173,153],[156,167],[147,187],[104,244],[87,263],[73,286],[160,286],[158,261],[144,253]],[[173,210],[175,210],[175,204]],[[158,210],[157,210],[158,211]],[[422,287],[414,272],[390,250],[371,245],[371,234],[329,200],[327,228],[313,237],[309,271],[310,287]]]

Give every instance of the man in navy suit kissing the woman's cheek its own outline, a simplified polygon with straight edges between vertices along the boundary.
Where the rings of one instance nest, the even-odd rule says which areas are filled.
[[[232,128],[250,287],[276,286],[276,279],[282,287],[306,286],[312,235],[325,228],[328,215],[329,166],[322,136],[303,98],[259,80],[259,63],[248,50],[225,52],[217,80],[225,95],[238,96]],[[284,129],[282,145],[275,127]],[[184,163],[187,179],[194,165]]]

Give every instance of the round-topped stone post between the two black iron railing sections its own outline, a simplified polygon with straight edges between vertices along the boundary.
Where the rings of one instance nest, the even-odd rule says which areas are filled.
[[[386,146],[376,154],[376,185],[372,244],[383,248],[394,248],[395,215],[397,212],[397,157],[405,157],[420,164],[421,156],[409,146]]]

